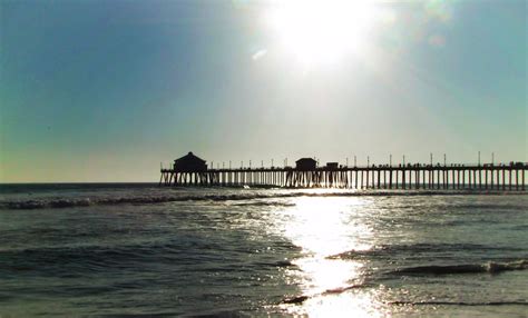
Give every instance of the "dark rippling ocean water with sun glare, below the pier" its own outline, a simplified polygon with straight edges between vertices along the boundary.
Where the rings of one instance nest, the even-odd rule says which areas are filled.
[[[528,316],[526,192],[0,185],[0,317]]]

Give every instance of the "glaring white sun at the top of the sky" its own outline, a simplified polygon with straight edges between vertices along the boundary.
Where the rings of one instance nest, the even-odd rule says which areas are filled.
[[[274,2],[267,22],[285,52],[312,66],[359,52],[378,16],[368,0],[286,0]]]

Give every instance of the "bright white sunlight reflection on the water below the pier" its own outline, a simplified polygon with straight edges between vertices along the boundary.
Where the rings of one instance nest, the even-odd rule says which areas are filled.
[[[291,209],[280,211],[283,233],[302,248],[304,257],[287,270],[306,300],[281,308],[292,315],[325,317],[381,316],[371,291],[355,288],[364,281],[364,265],[356,260],[330,259],[350,250],[368,250],[373,231],[364,220],[363,198],[297,198]]]

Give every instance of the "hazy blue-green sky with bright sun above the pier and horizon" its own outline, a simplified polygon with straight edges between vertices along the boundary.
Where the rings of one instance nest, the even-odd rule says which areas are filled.
[[[0,182],[528,161],[525,0],[351,2],[0,1]]]

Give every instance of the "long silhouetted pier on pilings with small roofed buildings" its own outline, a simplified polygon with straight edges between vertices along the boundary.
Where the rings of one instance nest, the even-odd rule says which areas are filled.
[[[194,156],[189,152],[190,156]],[[188,157],[187,155],[186,157]],[[160,186],[218,186],[218,187],[284,187],[284,188],[341,188],[341,189],[478,189],[526,190],[525,162],[487,165],[372,165],[324,167],[207,168],[178,165],[160,169]],[[193,158],[190,158],[193,159]],[[312,159],[313,160],[313,159]],[[189,160],[192,161],[192,160]],[[313,160],[315,161],[315,160]],[[310,162],[307,162],[310,163]],[[205,166],[205,167],[204,167]]]

